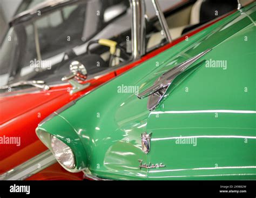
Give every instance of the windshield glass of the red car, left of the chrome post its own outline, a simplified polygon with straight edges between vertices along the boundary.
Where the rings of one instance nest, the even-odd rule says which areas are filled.
[[[131,37],[128,8],[128,0],[80,1],[44,14],[38,12],[30,21],[14,24],[0,49],[1,85],[20,80],[44,80],[50,84],[60,81],[70,73],[68,60],[81,59],[89,40],[126,42],[126,37]],[[87,59],[108,64],[108,50],[105,47],[99,56]],[[89,74],[102,70],[89,69]]]

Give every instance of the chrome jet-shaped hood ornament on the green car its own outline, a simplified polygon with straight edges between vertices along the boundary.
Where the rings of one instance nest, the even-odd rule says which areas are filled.
[[[147,88],[144,92],[137,95],[139,99],[143,99],[149,96],[147,101],[147,109],[152,111],[154,110],[160,101],[164,98],[164,95],[167,89],[172,84],[173,80],[179,76],[179,74],[190,69],[191,65],[196,62],[199,58],[203,57],[206,53],[212,49],[205,50],[204,52],[199,53],[197,56],[194,56],[185,62],[173,67],[171,70],[161,74],[161,76],[156,80],[153,86]]]

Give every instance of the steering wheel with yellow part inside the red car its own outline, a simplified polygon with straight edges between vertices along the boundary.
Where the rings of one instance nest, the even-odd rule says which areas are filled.
[[[116,56],[116,51],[117,49],[119,49],[121,52],[124,53],[125,57],[127,59],[130,58],[129,54],[125,51],[125,49],[121,46],[118,45],[117,42],[113,41],[113,40],[109,40],[109,39],[99,39],[99,40],[91,40],[88,44],[87,44],[87,47],[86,47],[86,53],[87,54],[91,54],[91,51],[89,49],[89,47],[92,45],[92,44],[99,44],[99,45],[103,45],[103,46],[107,46],[110,48],[109,52],[110,52],[110,59],[109,59],[109,63],[111,65],[112,63],[112,60],[117,57],[119,58],[122,62],[124,62],[125,60],[121,57],[118,57]]]

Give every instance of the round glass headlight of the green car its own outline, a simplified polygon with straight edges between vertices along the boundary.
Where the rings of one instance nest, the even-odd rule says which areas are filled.
[[[51,135],[51,148],[59,163],[69,169],[75,168],[75,155],[68,145]]]

